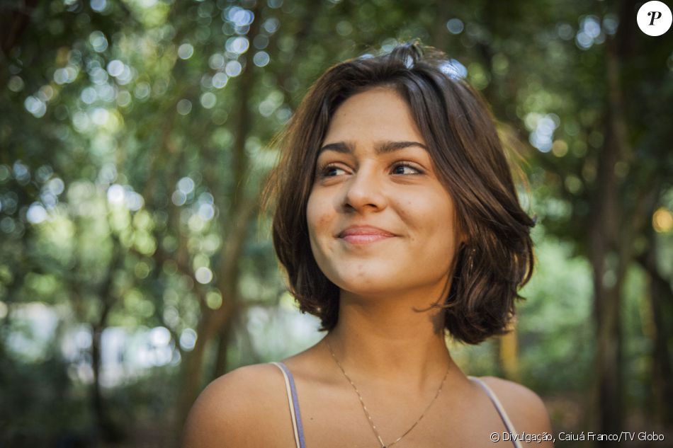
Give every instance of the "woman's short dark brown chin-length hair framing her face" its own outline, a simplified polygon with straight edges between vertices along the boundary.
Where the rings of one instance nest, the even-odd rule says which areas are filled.
[[[384,86],[409,105],[467,241],[454,254],[451,290],[441,304],[444,327],[470,344],[507,332],[519,287],[533,271],[534,221],[519,205],[490,110],[456,74],[443,53],[417,43],[350,59],[320,76],[281,134],[281,160],[267,186],[276,207],[273,245],[300,310],[319,317],[321,330],[336,325],[339,288],[318,268],[308,236],[317,154],[336,108]]]

